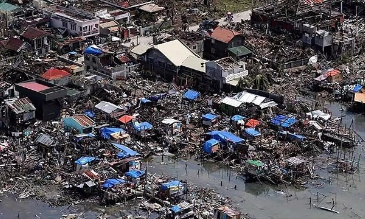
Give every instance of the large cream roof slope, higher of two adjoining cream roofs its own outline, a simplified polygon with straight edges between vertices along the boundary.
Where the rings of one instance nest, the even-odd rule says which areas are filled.
[[[181,66],[186,58],[190,55],[196,56],[182,42],[175,39],[166,43],[161,43],[153,46],[155,49],[165,55],[166,58],[175,66]]]

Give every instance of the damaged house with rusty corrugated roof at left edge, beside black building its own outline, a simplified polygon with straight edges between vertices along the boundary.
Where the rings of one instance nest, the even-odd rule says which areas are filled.
[[[1,104],[1,127],[14,131],[28,125],[35,119],[35,107],[27,97],[4,100]]]

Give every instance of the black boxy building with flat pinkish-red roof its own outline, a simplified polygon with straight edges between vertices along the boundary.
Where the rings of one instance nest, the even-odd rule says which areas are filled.
[[[62,98],[67,89],[46,81],[34,79],[15,84],[15,90],[21,98],[28,97],[37,108],[36,116],[49,121],[61,114]]]

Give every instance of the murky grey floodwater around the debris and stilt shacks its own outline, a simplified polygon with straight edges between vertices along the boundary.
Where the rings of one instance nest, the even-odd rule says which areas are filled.
[[[327,108],[333,112],[333,116],[346,115],[342,119],[343,124],[349,127],[354,121],[354,129],[365,139],[365,116],[352,114],[351,112],[339,111],[338,104],[328,104]],[[365,217],[365,177],[364,177],[364,151],[358,146],[356,151],[361,154],[362,165],[355,174],[339,175],[329,174],[331,178],[327,181],[327,171],[319,173],[323,180],[318,184],[312,184],[311,188],[305,190],[288,187],[286,197],[275,192],[278,189],[272,185],[261,185],[259,183],[245,183],[241,176],[237,176],[234,170],[224,168],[216,162],[199,162],[194,160],[174,160],[165,156],[164,163],[162,158],[156,157],[148,162],[149,173],[169,174],[180,180],[187,180],[190,184],[201,185],[215,188],[223,196],[231,197],[234,207],[241,212],[250,214],[257,219],[291,219],[291,218],[311,218],[311,219],[343,219],[343,218],[364,218]],[[325,160],[324,160],[325,161]],[[186,165],[186,167],[185,167]],[[324,162],[323,165],[326,165]],[[197,174],[199,171],[199,174]],[[222,186],[221,186],[222,182]],[[331,183],[330,183],[331,182]],[[237,190],[234,189],[237,185]],[[281,188],[285,191],[285,188]],[[322,195],[317,194],[323,194]],[[339,214],[310,207],[311,203],[319,206],[331,208],[333,201],[336,202],[333,208]],[[324,198],[324,199],[323,199]],[[39,201],[22,200],[15,201],[14,197],[3,200],[0,203],[0,219],[2,218],[60,218],[62,208],[49,208],[46,204]],[[323,199],[323,200],[322,200]],[[84,208],[80,211],[85,212],[85,218],[95,218],[100,213],[95,213],[95,208]],[[35,216],[37,215],[37,216]]]

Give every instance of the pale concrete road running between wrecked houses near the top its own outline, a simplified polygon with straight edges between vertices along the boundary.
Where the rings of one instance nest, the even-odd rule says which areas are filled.
[[[236,14],[233,14],[233,22],[241,22],[241,20],[249,20],[250,19],[250,14],[251,14],[251,10],[248,11],[243,11],[243,12],[239,12]],[[218,19],[216,21],[219,22],[219,24],[227,24],[227,21],[224,21],[224,19],[226,18],[221,18]],[[195,26],[190,26],[189,30],[190,31],[196,31],[199,28],[199,25],[195,25]],[[137,37],[133,37],[131,38],[131,42],[129,43],[122,43],[123,46],[127,46],[127,47],[131,47],[132,46],[132,42],[134,42],[134,45],[137,45]],[[138,37],[138,43],[153,43],[153,37]]]

